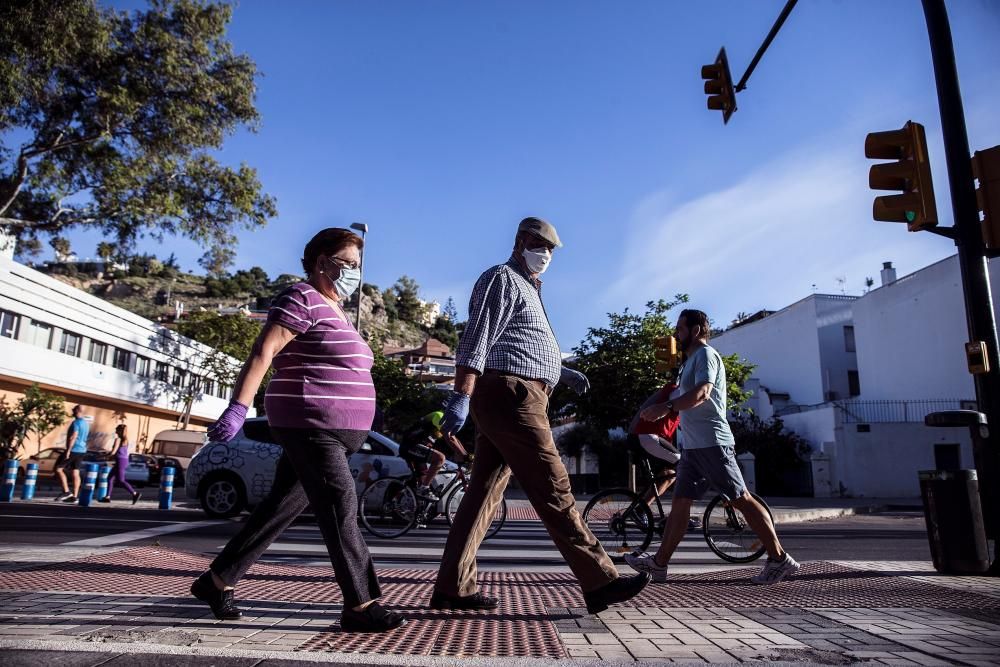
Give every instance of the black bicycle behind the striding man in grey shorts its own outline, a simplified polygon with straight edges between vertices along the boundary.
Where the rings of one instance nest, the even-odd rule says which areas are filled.
[[[657,530],[663,529],[667,513],[656,493],[653,468],[646,457],[641,457],[638,468],[644,473],[645,487],[638,492],[629,489],[601,491],[587,503],[583,521],[601,541],[609,554],[642,552],[653,541]],[[653,510],[643,500],[653,495],[657,520]],[[774,521],[771,508],[755,493],[751,496],[767,510]],[[764,555],[766,549],[746,518],[722,496],[716,496],[705,508],[701,530],[708,548],[722,560],[730,563],[751,563]]]

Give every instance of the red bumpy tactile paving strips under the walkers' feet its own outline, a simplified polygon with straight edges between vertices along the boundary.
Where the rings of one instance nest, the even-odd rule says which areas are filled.
[[[0,590],[59,590],[186,597],[192,579],[209,559],[173,549],[137,547],[64,563],[0,573]],[[895,607],[964,610],[1000,609],[1000,601],[968,591],[853,570],[831,563],[808,563],[793,578],[775,586],[749,581],[756,567],[706,574],[671,575],[652,584],[629,606],[689,607]],[[501,606],[493,611],[436,612],[426,608],[436,573],[422,569],[379,572],[385,605],[409,622],[383,635],[342,633],[334,623],[298,650],[397,653],[447,656],[565,657],[547,608],[583,605],[569,573],[482,572],[480,583]],[[328,567],[257,564],[240,582],[239,597],[339,604],[340,590]],[[335,617],[334,617],[335,618]],[[318,628],[323,630],[323,628]]]

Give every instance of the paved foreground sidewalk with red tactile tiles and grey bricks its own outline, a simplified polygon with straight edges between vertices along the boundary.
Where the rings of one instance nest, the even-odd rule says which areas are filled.
[[[380,572],[386,604],[409,622],[358,635],[339,631],[329,568],[255,566],[238,590],[246,615],[223,623],[187,595],[208,562],[200,555],[137,547],[41,564],[10,556],[0,571],[3,664],[19,647],[83,651],[84,660],[95,649],[105,659],[176,657],[160,664],[202,664],[196,656],[210,655],[220,665],[1000,663],[1000,582],[943,577],[918,562],[811,562],[770,587],[749,582],[755,567],[682,574],[599,616],[586,614],[565,573],[482,573],[500,609],[445,613],[425,608],[433,572],[388,569]],[[73,660],[62,664],[96,664]]]

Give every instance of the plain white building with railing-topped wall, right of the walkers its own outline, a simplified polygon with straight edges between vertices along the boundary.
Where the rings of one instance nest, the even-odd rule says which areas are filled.
[[[991,265],[994,308],[998,272]],[[838,305],[839,304],[839,305]],[[861,297],[814,295],[713,339],[758,365],[749,389],[810,442],[817,496],[916,496],[917,472],[974,466],[965,429],[929,412],[975,406],[957,256]],[[845,392],[846,385],[846,392]]]

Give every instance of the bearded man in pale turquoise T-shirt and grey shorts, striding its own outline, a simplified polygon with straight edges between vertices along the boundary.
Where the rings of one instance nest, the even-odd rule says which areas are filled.
[[[700,310],[681,311],[674,337],[687,357],[681,368],[680,394],[642,411],[643,419],[657,421],[671,412],[681,417],[681,460],[663,541],[655,554],[629,554],[627,562],[653,581],[667,580],[667,564],[687,532],[691,505],[709,487],[714,487],[746,517],[747,523],[767,549],[764,569],[751,581],[776,584],[794,574],[799,564],[778,542],[768,513],[747,491],[736,463],[733,432],[726,420],[726,368],[722,356],[708,344],[708,315]]]

